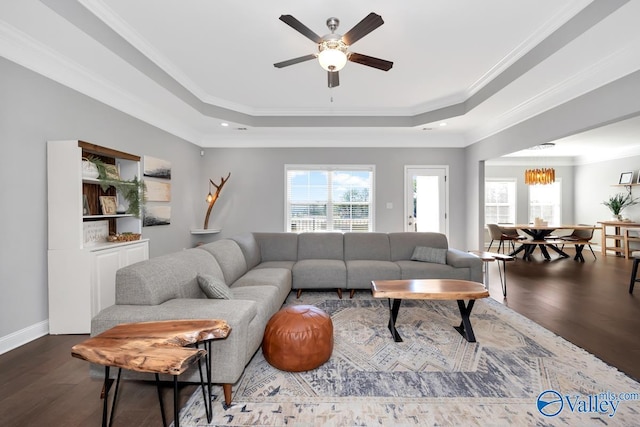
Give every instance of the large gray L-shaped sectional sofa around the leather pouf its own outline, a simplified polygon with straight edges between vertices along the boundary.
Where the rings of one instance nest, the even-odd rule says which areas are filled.
[[[416,247],[439,249],[446,263],[412,260]],[[199,274],[222,279],[233,298],[207,299]],[[298,295],[303,289],[332,289],[342,296],[343,290],[370,289],[371,280],[419,278],[482,282],[482,261],[449,248],[439,233],[244,233],[118,270],[116,304],[92,319],[91,334],[127,322],[226,320],[229,337],[212,345],[212,382],[223,385],[230,404],[232,384],[292,289]],[[92,372],[102,375],[95,366]],[[181,380],[197,382],[199,374],[188,371]]]

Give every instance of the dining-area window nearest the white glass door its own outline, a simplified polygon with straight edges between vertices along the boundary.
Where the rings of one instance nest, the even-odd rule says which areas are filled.
[[[515,224],[515,178],[487,179],[485,181],[484,220],[486,224]]]

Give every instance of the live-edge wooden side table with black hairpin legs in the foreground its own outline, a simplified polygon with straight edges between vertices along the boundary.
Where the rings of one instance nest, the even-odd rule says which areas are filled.
[[[162,394],[160,392],[159,374],[173,375],[173,409],[174,424],[179,427],[178,407],[178,376],[189,367],[198,363],[200,370],[200,384],[205,400],[207,420],[212,419],[211,402],[211,341],[226,338],[231,327],[224,320],[217,319],[182,319],[157,322],[138,322],[117,325],[95,337],[73,346],[71,355],[78,359],[97,363],[105,367],[104,374],[104,404],[102,410],[102,425],[106,427],[113,421],[120,374],[122,369],[138,372],[154,373],[158,389],[162,423],[167,425]],[[200,343],[206,349],[198,348]],[[195,347],[186,347],[195,345]],[[208,398],[205,391],[202,374],[201,359],[205,358],[207,371]],[[109,368],[117,367],[118,377],[116,389],[111,405],[111,415],[108,415],[108,398],[111,380]],[[109,418],[109,419],[108,419]]]

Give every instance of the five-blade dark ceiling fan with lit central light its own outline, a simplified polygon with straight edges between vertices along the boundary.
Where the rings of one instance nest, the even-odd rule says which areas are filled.
[[[344,35],[335,33],[338,25],[340,25],[340,20],[338,20],[338,18],[329,18],[327,19],[327,27],[329,27],[331,33],[322,37],[311,31],[306,25],[291,15],[281,15],[280,20],[311,41],[317,43],[318,53],[312,53],[273,64],[276,68],[288,67],[289,65],[318,58],[320,66],[327,70],[328,83],[331,88],[340,84],[338,71],[346,65],[347,61],[356,62],[383,71],[389,71],[391,67],[393,67],[393,62],[391,61],[349,52],[348,50],[355,42],[384,24],[382,17],[373,12],[358,22]]]

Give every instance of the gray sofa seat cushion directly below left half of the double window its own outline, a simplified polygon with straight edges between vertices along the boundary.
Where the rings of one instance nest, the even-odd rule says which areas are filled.
[[[347,286],[347,267],[342,260],[305,259],[295,263],[291,274],[294,289],[344,289]]]

